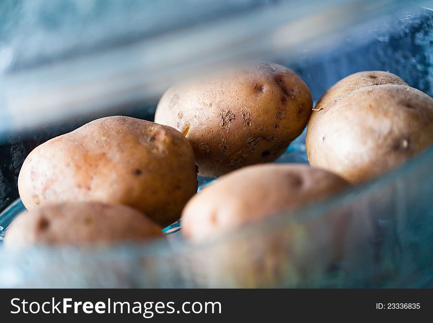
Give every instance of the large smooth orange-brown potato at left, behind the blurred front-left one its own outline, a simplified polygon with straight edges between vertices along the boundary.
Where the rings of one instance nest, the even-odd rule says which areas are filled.
[[[67,201],[134,207],[165,226],[197,191],[194,153],[177,130],[104,117],[36,147],[18,177],[28,209]]]

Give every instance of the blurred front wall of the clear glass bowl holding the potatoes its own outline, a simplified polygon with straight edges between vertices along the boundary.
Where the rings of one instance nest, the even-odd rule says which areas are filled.
[[[303,154],[291,148],[281,159]],[[333,199],[296,213],[277,214],[201,245],[186,242],[176,223],[164,229],[168,235],[163,241],[109,248],[34,247],[14,252],[0,248],[0,284],[34,288],[431,287],[431,165],[433,147],[401,168]],[[24,209],[17,200],[1,213],[2,232]],[[330,228],[336,217],[345,219],[345,230],[338,236],[338,258],[330,253],[334,248]]]

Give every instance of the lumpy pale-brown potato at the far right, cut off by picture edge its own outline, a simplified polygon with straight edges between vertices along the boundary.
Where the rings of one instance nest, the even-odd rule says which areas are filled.
[[[358,89],[336,90],[356,88],[356,76],[369,73],[378,72],[355,74],[325,93],[307,129],[310,165],[354,184],[394,169],[433,142],[433,99],[397,76],[378,76],[372,79],[378,85],[366,87],[362,77]]]

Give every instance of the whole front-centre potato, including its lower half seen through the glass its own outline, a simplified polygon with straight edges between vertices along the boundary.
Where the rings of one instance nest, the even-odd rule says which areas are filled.
[[[182,212],[181,233],[204,244],[188,255],[187,264],[204,286],[316,287],[314,282],[343,254],[344,211],[293,222],[291,216],[272,217],[237,229],[348,186],[339,176],[294,164],[249,166],[222,176]]]

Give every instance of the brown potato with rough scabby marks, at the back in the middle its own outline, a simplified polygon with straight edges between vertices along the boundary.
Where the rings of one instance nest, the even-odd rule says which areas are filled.
[[[186,136],[200,175],[220,176],[278,158],[305,128],[311,108],[307,85],[266,62],[169,88],[155,122]]]

